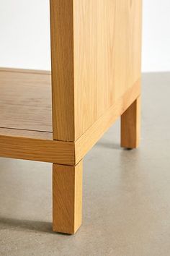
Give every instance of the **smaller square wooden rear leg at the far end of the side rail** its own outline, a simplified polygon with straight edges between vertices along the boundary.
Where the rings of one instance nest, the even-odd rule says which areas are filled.
[[[140,142],[140,97],[121,116],[121,147],[137,148]]]

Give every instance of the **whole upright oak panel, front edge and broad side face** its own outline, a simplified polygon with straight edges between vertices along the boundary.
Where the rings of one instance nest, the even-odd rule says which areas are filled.
[[[140,77],[141,0],[51,0],[53,130],[76,141]]]

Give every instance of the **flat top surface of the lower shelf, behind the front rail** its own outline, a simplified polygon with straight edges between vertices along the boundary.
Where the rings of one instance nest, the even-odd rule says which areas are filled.
[[[53,132],[49,72],[0,69],[0,127]]]

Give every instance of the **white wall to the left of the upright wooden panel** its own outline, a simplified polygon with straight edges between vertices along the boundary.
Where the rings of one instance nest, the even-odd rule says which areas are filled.
[[[49,0],[0,0],[0,67],[50,69]]]

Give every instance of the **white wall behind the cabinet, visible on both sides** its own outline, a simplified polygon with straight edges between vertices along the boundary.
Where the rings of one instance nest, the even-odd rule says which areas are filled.
[[[49,8],[49,0],[0,0],[0,67],[50,69]],[[170,71],[169,0],[143,0],[142,66]]]

